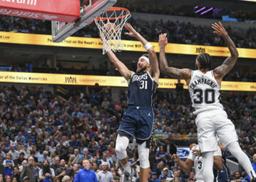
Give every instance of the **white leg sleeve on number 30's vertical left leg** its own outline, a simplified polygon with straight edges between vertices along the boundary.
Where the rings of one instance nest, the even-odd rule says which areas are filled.
[[[207,151],[202,154],[203,157],[203,181],[212,182],[214,181],[214,152]]]

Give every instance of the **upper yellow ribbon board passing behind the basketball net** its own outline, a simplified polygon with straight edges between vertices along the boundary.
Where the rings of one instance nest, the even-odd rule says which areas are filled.
[[[0,0],[1,1],[1,0]],[[89,49],[102,49],[102,41],[96,38],[85,38],[69,36],[62,42],[55,43],[50,35],[40,35],[32,33],[13,33],[0,31],[0,42],[11,44],[33,44],[42,46],[57,46],[57,47],[77,47]],[[122,41],[124,50],[145,52],[140,41]],[[151,42],[156,52],[159,52],[157,42]],[[201,46],[189,44],[167,44],[166,53],[182,54],[182,55],[198,55],[202,52],[207,52],[212,56],[227,57],[230,52],[227,47]],[[255,49],[238,48],[240,58],[256,58]]]

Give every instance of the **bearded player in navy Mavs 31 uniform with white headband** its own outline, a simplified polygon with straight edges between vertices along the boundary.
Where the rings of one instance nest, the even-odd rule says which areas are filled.
[[[136,138],[140,159],[140,182],[148,181],[149,148],[154,132],[153,98],[157,90],[159,79],[159,64],[154,48],[132,25],[127,23],[124,27],[129,31],[128,36],[138,39],[148,52],[138,59],[136,73],[130,71],[116,55],[108,50],[108,58],[129,84],[128,108],[121,119],[116,139],[116,155],[124,167],[124,181],[129,181],[132,169],[128,165],[127,146],[129,141]]]

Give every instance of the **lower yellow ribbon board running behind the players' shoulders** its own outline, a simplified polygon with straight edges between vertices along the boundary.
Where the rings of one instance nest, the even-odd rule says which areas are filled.
[[[70,84],[70,85],[89,85],[109,87],[127,87],[127,81],[122,76],[93,76],[93,75],[75,75],[75,74],[37,74],[22,72],[0,72],[0,82],[27,83],[27,84]],[[159,88],[175,89],[177,79],[159,79]],[[184,89],[187,89],[187,84]],[[222,82],[222,90],[228,91],[248,91],[256,92],[256,83],[252,82]]]

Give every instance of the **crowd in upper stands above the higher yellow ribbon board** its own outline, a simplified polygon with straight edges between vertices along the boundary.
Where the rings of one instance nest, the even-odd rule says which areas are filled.
[[[159,33],[168,33],[168,41],[171,43],[226,46],[225,41],[220,36],[213,34],[210,26],[197,26],[192,25],[192,23],[173,22],[170,20],[148,23],[143,20],[134,20],[132,17],[129,22],[148,41],[158,41]],[[0,31],[51,34],[49,21],[3,15],[0,16]],[[241,28],[231,29],[227,27],[227,32],[237,47],[256,48],[255,28],[243,30]],[[97,26],[91,23],[91,25],[87,25],[73,36],[99,37],[99,31]],[[122,39],[131,38],[124,35]]]

